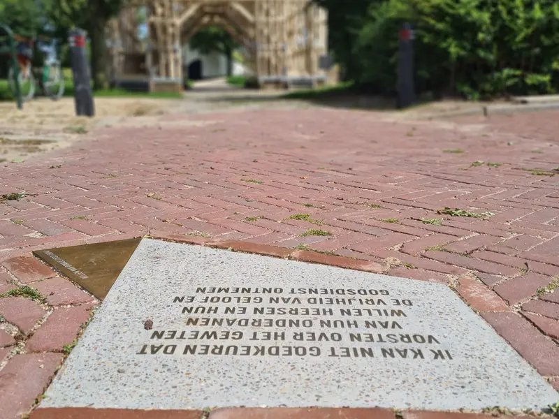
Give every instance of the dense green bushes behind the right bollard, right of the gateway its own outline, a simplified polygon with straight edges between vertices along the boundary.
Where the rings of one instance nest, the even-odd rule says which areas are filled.
[[[479,99],[554,93],[559,85],[554,0],[384,0],[368,1],[364,10],[361,0],[320,3],[329,10],[329,31],[337,33],[331,36],[335,58],[362,89],[395,92],[405,22],[416,29],[419,92]]]

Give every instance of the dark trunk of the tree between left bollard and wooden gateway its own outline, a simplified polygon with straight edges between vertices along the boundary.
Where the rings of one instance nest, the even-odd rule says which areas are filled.
[[[93,10],[96,10],[95,8]],[[105,39],[106,17],[103,10],[97,11],[92,16],[89,24],[89,38],[92,41],[92,78],[93,88],[95,90],[108,89],[108,63],[107,63],[107,45]]]

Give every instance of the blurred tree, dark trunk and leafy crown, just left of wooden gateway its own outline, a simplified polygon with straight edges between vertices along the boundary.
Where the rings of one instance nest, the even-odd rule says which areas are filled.
[[[33,0],[29,0],[33,1]],[[67,37],[68,29],[85,29],[91,41],[93,87],[108,87],[108,61],[105,29],[126,0],[50,0],[49,15],[59,36]]]

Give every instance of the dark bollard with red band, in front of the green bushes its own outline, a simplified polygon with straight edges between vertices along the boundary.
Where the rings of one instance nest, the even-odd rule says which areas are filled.
[[[415,101],[414,31],[409,23],[400,29],[398,57],[398,108],[408,108]]]

